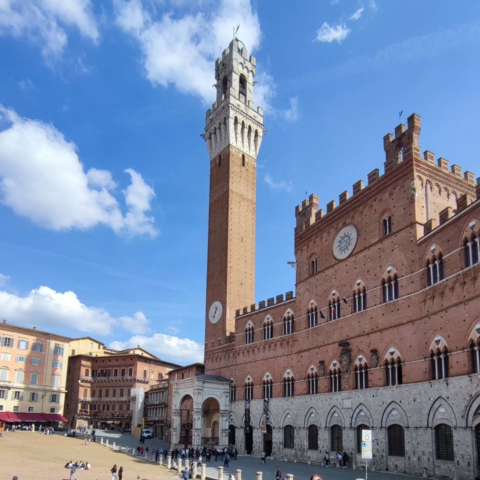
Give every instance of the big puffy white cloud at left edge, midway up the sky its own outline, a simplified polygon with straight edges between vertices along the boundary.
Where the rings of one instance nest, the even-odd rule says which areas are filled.
[[[153,188],[131,168],[131,183],[123,190],[123,215],[116,187],[107,170],[83,170],[76,146],[53,125],[21,118],[0,105],[0,201],[20,216],[52,230],[110,227],[117,234],[157,233],[146,215]]]

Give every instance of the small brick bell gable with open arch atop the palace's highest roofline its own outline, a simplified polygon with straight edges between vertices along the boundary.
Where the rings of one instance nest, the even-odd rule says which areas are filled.
[[[400,123],[395,127],[395,137],[387,133],[383,137],[383,149],[385,150],[385,173],[393,170],[402,161],[420,159],[420,116],[412,113],[407,118],[407,128]]]

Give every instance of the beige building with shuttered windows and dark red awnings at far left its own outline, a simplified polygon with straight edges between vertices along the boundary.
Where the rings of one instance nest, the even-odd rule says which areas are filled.
[[[60,421],[70,339],[6,320],[0,324],[0,334],[1,419]]]

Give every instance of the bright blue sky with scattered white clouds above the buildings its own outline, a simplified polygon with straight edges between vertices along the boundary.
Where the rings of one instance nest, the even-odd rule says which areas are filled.
[[[295,8],[292,8],[295,5]],[[203,358],[214,60],[257,58],[257,301],[294,290],[294,207],[420,146],[479,174],[477,1],[0,3],[0,312],[107,345]]]

